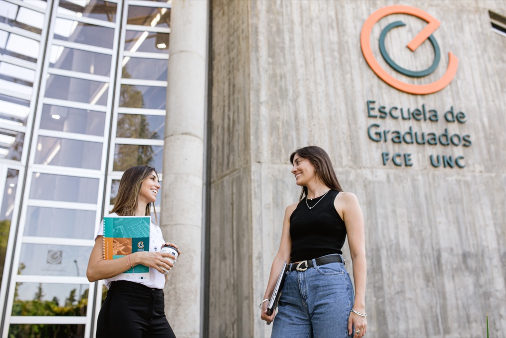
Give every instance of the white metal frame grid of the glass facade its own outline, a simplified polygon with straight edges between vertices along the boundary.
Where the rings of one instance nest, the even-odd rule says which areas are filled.
[[[113,158],[114,149],[117,144],[129,144],[129,145],[152,145],[163,147],[163,140],[149,140],[149,139],[125,139],[116,138],[117,132],[117,118],[118,114],[138,114],[138,115],[153,115],[153,116],[165,116],[166,111],[164,109],[144,109],[144,108],[129,108],[119,107],[119,93],[121,85],[137,85],[137,86],[149,86],[149,87],[167,87],[167,81],[158,80],[142,80],[142,79],[122,79],[122,60],[125,57],[130,58],[144,58],[153,60],[168,60],[168,53],[150,53],[150,52],[131,52],[124,51],[124,37],[127,30],[133,31],[146,31],[146,32],[161,32],[170,33],[170,28],[165,27],[151,27],[151,26],[140,26],[140,25],[127,25],[128,19],[128,8],[129,6],[140,6],[140,7],[151,7],[151,8],[172,8],[171,2],[158,3],[158,2],[146,2],[144,0],[127,0],[127,1],[115,1],[108,0],[117,4],[115,22],[102,21],[99,19],[88,18],[88,17],[73,17],[71,15],[58,13],[60,1],[54,0],[52,3],[48,3],[45,10],[38,7],[34,7],[27,3],[23,3],[20,0],[6,0],[9,3],[13,3],[20,7],[32,9],[39,13],[45,13],[44,25],[42,35],[38,35],[33,32],[24,31],[18,27],[11,27],[5,24],[0,24],[0,29],[4,29],[7,32],[18,34],[23,37],[31,38],[39,41],[39,57],[35,64],[30,63],[29,69],[35,70],[36,78],[33,85],[33,92],[28,95],[19,95],[17,93],[5,93],[3,94],[12,96],[19,99],[24,99],[30,102],[29,114],[27,116],[26,126],[23,126],[25,131],[25,140],[31,142],[23,148],[22,160],[1,160],[0,161],[0,176],[2,170],[5,172],[5,168],[16,168],[19,170],[18,181],[23,181],[23,187],[26,191],[25,196],[21,199],[22,193],[17,190],[14,208],[13,221],[17,220],[16,224],[13,222],[12,227],[17,227],[17,238],[13,231],[10,232],[10,238],[8,242],[8,256],[7,257],[13,263],[12,271],[4,271],[4,274],[9,274],[11,277],[9,284],[9,293],[6,294],[6,288],[0,289],[0,299],[6,299],[7,311],[5,313],[5,326],[3,332],[0,332],[3,336],[8,334],[10,324],[84,324],[85,325],[85,336],[92,336],[95,334],[95,324],[98,312],[101,307],[101,290],[104,285],[103,281],[89,283],[86,277],[72,277],[72,276],[35,276],[35,275],[18,275],[17,267],[19,266],[20,252],[23,244],[57,244],[57,245],[73,245],[73,246],[88,246],[94,245],[94,239],[78,239],[78,238],[60,238],[60,237],[39,237],[39,236],[24,236],[24,229],[26,225],[27,208],[31,206],[40,207],[55,207],[64,209],[74,210],[87,210],[96,211],[95,213],[95,227],[94,231],[98,230],[102,212],[108,213],[110,200],[111,185],[113,180],[119,180],[123,172],[113,171]],[[104,48],[92,45],[85,45],[75,43],[73,41],[65,41],[55,38],[54,29],[56,20],[66,19],[77,21],[80,23],[93,24],[106,28],[114,29],[113,44],[112,48]],[[94,53],[100,53],[105,55],[111,55],[111,73],[109,76],[95,75],[82,73],[72,70],[64,70],[50,67],[49,58],[46,57],[44,64],[40,61],[43,59],[43,53],[47,53],[52,46],[62,46],[72,49],[78,49],[82,51],[89,51]],[[9,56],[1,56],[1,61],[8,63],[28,66],[26,61],[17,59]],[[104,83],[104,91],[107,92],[107,103],[106,105],[97,105],[76,101],[60,100],[45,97],[46,85],[47,85],[47,74],[54,74],[60,76],[67,76],[72,78],[80,78],[85,80],[93,80]],[[12,94],[12,95],[10,95]],[[37,100],[37,98],[39,98]],[[36,101],[38,104],[36,104]],[[86,135],[79,133],[68,133],[61,131],[45,130],[40,129],[41,111],[44,104],[56,105],[62,107],[76,108],[76,109],[87,109],[97,112],[105,113],[104,120],[104,133],[103,136]],[[35,128],[34,128],[35,127]],[[21,130],[19,132],[22,132]],[[102,157],[100,170],[90,170],[83,168],[63,167],[55,165],[42,165],[35,164],[35,150],[39,136],[46,137],[57,137],[61,139],[80,140],[88,142],[102,142]],[[28,154],[28,149],[31,149]],[[4,168],[4,169],[2,169]],[[97,203],[78,203],[78,202],[65,202],[65,201],[53,201],[53,200],[40,200],[29,198],[29,191],[32,184],[33,174],[51,174],[51,175],[63,175],[81,178],[91,178],[98,180],[98,196]],[[0,177],[1,178],[1,177]],[[159,174],[160,181],[162,175]],[[1,182],[0,182],[1,183]],[[105,201],[107,202],[105,202]],[[100,207],[102,205],[102,208]],[[98,206],[98,208],[97,208]],[[156,211],[160,212],[160,207],[155,206]],[[12,237],[12,238],[11,238]],[[7,261],[7,260],[6,260]],[[12,305],[13,305],[13,294],[15,285],[17,282],[47,282],[47,283],[62,283],[62,284],[88,284],[89,295],[88,295],[88,308],[86,316],[82,317],[49,317],[49,316],[12,316]],[[4,293],[2,293],[4,292]],[[0,309],[0,315],[2,309]],[[93,329],[92,329],[93,328]]]

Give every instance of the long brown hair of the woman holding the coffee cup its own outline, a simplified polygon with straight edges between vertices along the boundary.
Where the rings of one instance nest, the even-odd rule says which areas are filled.
[[[158,177],[155,168],[149,165],[133,166],[125,170],[121,181],[119,181],[118,194],[111,213],[116,213],[119,216],[134,216],[139,204],[139,192],[141,191],[142,182],[153,172]],[[145,215],[151,216],[151,204],[153,204],[153,210],[155,210],[155,224],[157,224],[155,203],[146,205]]]

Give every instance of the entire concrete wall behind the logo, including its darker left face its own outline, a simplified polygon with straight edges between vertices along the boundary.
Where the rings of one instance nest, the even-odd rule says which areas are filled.
[[[422,79],[459,59],[448,87],[430,95],[398,91],[365,62],[360,30],[375,10],[405,4],[441,21],[442,58]],[[357,194],[366,227],[369,337],[483,336],[506,331],[506,37],[491,31],[488,10],[504,2],[212,2],[212,200],[210,336],[269,336],[258,304],[279,245],[286,205],[299,188],[289,154],[318,145],[341,185]],[[433,58],[426,42],[404,47],[424,22],[396,15],[386,46],[408,69]],[[406,39],[407,38],[407,39]],[[385,69],[389,69],[383,62]],[[367,100],[404,109],[436,109],[439,120],[368,117]],[[453,106],[466,122],[448,122]],[[377,112],[377,110],[375,111]],[[470,147],[374,142],[381,130],[470,135]],[[382,152],[410,153],[412,166],[382,162]],[[463,156],[465,168],[431,165],[431,155]],[[391,158],[391,157],[390,157]],[[344,251],[349,259],[348,244]],[[347,264],[350,273],[352,264]]]

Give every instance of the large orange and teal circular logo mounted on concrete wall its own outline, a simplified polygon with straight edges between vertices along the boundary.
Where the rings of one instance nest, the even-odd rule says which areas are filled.
[[[376,75],[379,76],[379,78],[387,82],[390,86],[410,94],[418,94],[418,95],[432,94],[439,92],[440,90],[448,86],[453,77],[455,76],[458,67],[458,59],[452,53],[448,53],[448,67],[446,68],[446,72],[443,74],[443,76],[441,76],[441,78],[432,83],[429,83],[428,85],[412,85],[411,83],[402,82],[393,77],[392,75],[390,75],[389,73],[387,73],[379,65],[379,63],[374,58],[374,55],[371,50],[370,35],[372,32],[372,27],[380,19],[391,14],[409,14],[427,21],[428,23],[427,26],[425,26],[425,28],[422,29],[418,33],[418,35],[416,35],[410,41],[407,47],[412,52],[414,52],[421,44],[424,43],[425,40],[429,39],[430,43],[432,44],[432,48],[434,49],[434,61],[432,65],[425,70],[412,71],[402,68],[397,63],[395,63],[394,60],[392,60],[392,58],[390,57],[385,48],[385,37],[387,36],[387,33],[391,29],[400,26],[405,26],[405,23],[403,23],[402,21],[396,21],[392,22],[387,27],[385,27],[381,32],[381,35],[379,36],[379,51],[381,52],[383,58],[389,64],[390,67],[394,68],[397,72],[407,76],[423,77],[431,74],[434,70],[436,70],[436,68],[439,65],[439,61],[441,59],[441,52],[439,50],[439,45],[434,36],[432,36],[432,33],[439,27],[441,23],[433,16],[431,16],[429,13],[426,13],[414,7],[402,5],[388,6],[372,13],[371,16],[369,16],[367,20],[365,20],[365,23],[362,26],[362,31],[360,33],[360,46],[362,47],[362,53],[364,54],[365,61],[367,61],[367,63],[374,71],[374,73],[376,73]]]

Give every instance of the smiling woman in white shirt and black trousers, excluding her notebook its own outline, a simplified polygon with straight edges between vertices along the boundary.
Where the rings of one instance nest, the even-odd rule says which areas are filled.
[[[151,205],[154,207],[160,188],[153,167],[139,165],[129,168],[121,177],[114,207],[108,217],[151,216]],[[176,257],[160,252],[160,249],[162,245],[171,245],[181,255],[177,245],[165,242],[160,227],[151,222],[149,251],[104,260],[103,224],[102,221],[86,272],[90,282],[105,279],[109,289],[98,316],[97,337],[175,337],[165,317],[163,286],[166,281],[164,270],[171,270]],[[148,280],[127,279],[120,275],[139,264],[149,267]]]

